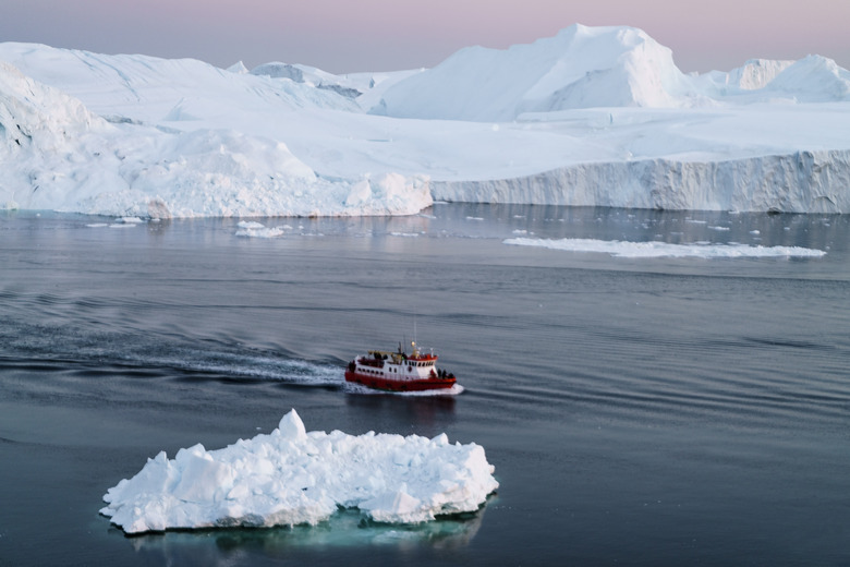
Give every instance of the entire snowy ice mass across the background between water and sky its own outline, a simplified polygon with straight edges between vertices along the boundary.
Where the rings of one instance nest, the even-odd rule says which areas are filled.
[[[0,207],[116,217],[411,215],[446,202],[850,212],[850,73],[682,73],[641,29],[570,26],[433,69],[0,44]]]

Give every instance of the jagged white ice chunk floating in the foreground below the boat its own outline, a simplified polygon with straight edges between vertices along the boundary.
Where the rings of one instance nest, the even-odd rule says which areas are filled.
[[[498,487],[484,448],[446,434],[307,433],[295,410],[270,434],[148,459],[104,496],[100,514],[127,533],[315,524],[340,508],[415,523],[477,510]]]

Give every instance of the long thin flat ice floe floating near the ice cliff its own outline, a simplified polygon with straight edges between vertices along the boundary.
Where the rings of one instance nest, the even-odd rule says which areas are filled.
[[[618,240],[593,239],[532,239],[512,238],[506,244],[538,246],[568,252],[600,252],[617,257],[821,257],[823,250],[800,246],[750,246],[746,244],[669,244],[667,242],[622,242]]]

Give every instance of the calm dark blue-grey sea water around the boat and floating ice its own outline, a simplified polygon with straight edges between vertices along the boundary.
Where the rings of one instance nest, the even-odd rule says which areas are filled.
[[[850,219],[436,205],[109,226],[0,214],[0,565],[848,565]],[[612,257],[514,237],[803,246]],[[413,336],[466,390],[362,395]],[[484,446],[474,517],[125,538],[148,457],[307,430]]]

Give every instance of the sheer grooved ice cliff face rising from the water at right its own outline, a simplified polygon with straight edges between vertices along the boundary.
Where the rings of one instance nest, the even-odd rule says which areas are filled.
[[[677,210],[850,213],[850,150],[720,161],[587,162],[534,176],[432,180],[437,201]]]

